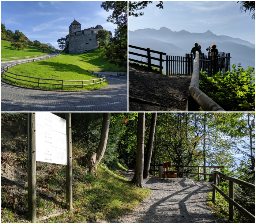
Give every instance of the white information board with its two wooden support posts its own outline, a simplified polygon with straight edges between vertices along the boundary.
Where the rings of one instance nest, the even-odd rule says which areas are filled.
[[[71,113],[65,119],[52,113],[28,113],[28,209],[29,219],[37,221],[35,161],[66,165],[67,209],[72,210]]]

